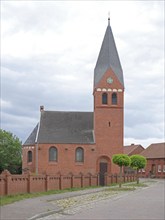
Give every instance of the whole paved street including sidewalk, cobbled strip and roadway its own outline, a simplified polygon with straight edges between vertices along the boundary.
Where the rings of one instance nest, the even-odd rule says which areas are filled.
[[[103,187],[26,199],[1,207],[0,219],[164,220],[165,180],[155,181],[117,195],[109,195]]]

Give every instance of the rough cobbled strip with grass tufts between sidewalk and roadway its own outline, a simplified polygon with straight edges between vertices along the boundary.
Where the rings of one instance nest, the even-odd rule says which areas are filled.
[[[148,187],[137,187],[136,190],[135,189],[130,190],[130,186],[128,185],[127,186],[127,188],[129,188],[128,191],[126,190],[126,186],[123,186],[123,188],[125,189],[124,191],[115,191],[115,190],[113,191],[111,190],[112,189],[111,187],[111,189],[106,188],[101,192],[93,192],[91,194],[79,195],[70,198],[63,198],[56,201],[51,201],[51,204],[54,204],[55,206],[58,206],[60,208],[60,211],[53,215],[37,218],[37,220],[73,219],[73,218],[85,219],[84,216],[82,218],[82,214],[80,213],[87,213],[87,212],[90,213],[91,210],[98,209],[98,207],[104,206],[105,203],[108,203],[109,201],[112,203],[112,201],[119,201],[125,196],[133,195],[135,191],[136,193],[137,192],[142,193],[142,189],[150,188],[151,186],[155,185],[155,183],[157,183],[157,181],[155,180],[149,181],[145,179],[143,180],[143,182],[145,182],[148,185]],[[96,211],[92,211],[92,213],[96,213]],[[95,216],[95,218],[97,218],[97,216]],[[103,219],[103,217],[101,218]],[[87,219],[93,219],[93,218],[92,216],[88,215]]]

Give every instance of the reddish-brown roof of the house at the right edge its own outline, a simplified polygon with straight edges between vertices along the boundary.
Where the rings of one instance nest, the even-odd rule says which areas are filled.
[[[148,159],[165,158],[165,143],[151,144],[140,155]]]

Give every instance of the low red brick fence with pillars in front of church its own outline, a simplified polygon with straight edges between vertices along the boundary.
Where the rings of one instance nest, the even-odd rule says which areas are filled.
[[[112,178],[106,175],[105,185],[118,182],[119,177]],[[123,178],[125,180],[127,178]],[[132,178],[129,179],[133,180]],[[0,175],[0,195],[15,195],[20,193],[44,192],[48,190],[60,190],[66,188],[81,188],[88,186],[98,186],[99,175],[11,175],[4,171]]]

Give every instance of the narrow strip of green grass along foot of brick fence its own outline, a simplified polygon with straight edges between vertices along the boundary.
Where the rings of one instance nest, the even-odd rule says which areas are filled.
[[[69,188],[69,189],[64,189],[64,190],[50,190],[47,192],[0,196],[0,206],[18,202],[24,199],[36,198],[36,197],[52,195],[52,194],[60,194],[60,193],[65,193],[65,192],[73,192],[73,191],[79,191],[79,190],[85,190],[85,189],[92,189],[92,188],[99,188],[99,186],[91,186],[91,187],[84,187],[84,188]]]

